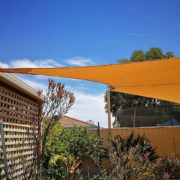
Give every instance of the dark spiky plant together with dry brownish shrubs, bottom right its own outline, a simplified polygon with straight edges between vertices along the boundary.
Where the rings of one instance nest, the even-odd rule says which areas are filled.
[[[157,158],[145,136],[136,138],[131,134],[127,139],[117,136],[110,141],[109,160],[112,169],[101,171],[94,179],[180,179],[180,162],[167,157]]]

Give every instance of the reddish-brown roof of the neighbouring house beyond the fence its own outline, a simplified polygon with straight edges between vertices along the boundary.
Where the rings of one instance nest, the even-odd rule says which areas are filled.
[[[71,128],[73,126],[83,126],[83,127],[88,127],[88,128],[97,128],[96,125],[89,123],[89,122],[85,122],[79,119],[75,119],[69,116],[62,116],[59,119],[59,122],[62,124],[62,126],[64,128]]]

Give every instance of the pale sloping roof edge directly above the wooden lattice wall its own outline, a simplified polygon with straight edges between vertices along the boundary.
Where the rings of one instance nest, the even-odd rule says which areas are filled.
[[[33,89],[31,86],[26,84],[24,81],[22,81],[14,74],[0,73],[0,81],[38,101],[43,101],[43,99],[38,96],[37,91],[35,89]]]

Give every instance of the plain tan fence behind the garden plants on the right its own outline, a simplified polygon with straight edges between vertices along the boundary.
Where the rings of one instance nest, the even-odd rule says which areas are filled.
[[[93,132],[96,133],[97,130],[93,130]],[[132,132],[134,135],[145,135],[152,146],[157,149],[159,155],[175,156],[180,159],[180,126],[113,128],[111,136],[109,136],[108,129],[100,129],[100,136],[104,139],[106,146],[109,137],[114,138],[118,134],[127,137]]]

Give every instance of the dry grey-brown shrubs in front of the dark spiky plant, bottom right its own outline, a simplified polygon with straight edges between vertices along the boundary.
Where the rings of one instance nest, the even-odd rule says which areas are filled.
[[[112,170],[101,171],[91,180],[180,179],[179,160],[165,156],[152,162],[142,156],[139,147],[131,147],[120,157],[116,153],[110,153],[110,161],[113,165]]]

